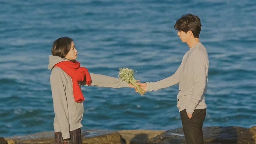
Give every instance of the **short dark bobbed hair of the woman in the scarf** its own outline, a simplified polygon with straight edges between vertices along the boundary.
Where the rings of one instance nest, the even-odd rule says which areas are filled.
[[[59,56],[61,58],[64,58],[71,49],[72,41],[73,39],[69,37],[58,38],[53,42],[53,46],[51,48],[51,54],[54,56]]]

